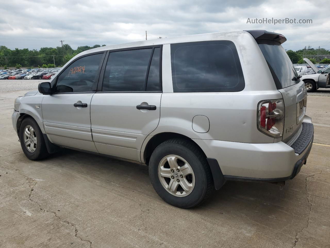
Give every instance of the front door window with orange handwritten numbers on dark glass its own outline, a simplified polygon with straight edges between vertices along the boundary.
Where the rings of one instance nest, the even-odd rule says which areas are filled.
[[[102,54],[94,54],[76,60],[61,72],[56,83],[56,92],[96,91]],[[50,74],[49,74],[50,75]]]

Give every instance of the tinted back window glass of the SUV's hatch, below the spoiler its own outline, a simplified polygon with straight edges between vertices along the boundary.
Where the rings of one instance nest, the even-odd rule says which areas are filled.
[[[258,45],[266,59],[278,90],[300,82],[289,56],[280,43],[270,40],[258,40]]]

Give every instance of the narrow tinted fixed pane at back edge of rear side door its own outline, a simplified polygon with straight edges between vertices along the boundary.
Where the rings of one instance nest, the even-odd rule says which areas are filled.
[[[160,91],[160,48],[155,48],[149,69],[147,91]]]

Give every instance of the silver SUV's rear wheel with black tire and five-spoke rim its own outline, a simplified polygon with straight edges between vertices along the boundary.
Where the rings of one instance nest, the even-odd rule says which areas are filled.
[[[149,161],[149,176],[158,195],[180,208],[201,204],[213,188],[205,155],[193,142],[183,139],[170,139],[156,147]]]

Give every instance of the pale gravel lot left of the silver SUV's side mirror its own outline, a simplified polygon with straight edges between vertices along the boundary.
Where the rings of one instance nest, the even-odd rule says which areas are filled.
[[[11,91],[24,91],[37,90],[38,85],[41,82],[47,82],[49,80],[0,80],[0,92],[11,92]]]

